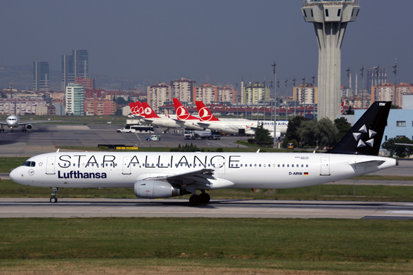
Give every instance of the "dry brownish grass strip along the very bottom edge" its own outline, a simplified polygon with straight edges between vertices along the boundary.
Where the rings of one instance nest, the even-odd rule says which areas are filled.
[[[412,263],[240,259],[0,260],[1,274],[412,274]]]

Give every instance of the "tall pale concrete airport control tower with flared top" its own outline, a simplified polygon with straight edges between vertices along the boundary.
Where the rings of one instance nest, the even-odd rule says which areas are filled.
[[[348,22],[359,15],[359,0],[304,0],[304,20],[314,23],[319,45],[318,119],[340,114],[341,44]]]

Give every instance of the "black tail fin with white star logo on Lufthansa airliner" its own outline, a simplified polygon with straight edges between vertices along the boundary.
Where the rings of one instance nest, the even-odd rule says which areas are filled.
[[[391,101],[376,101],[339,143],[326,153],[379,155]]]

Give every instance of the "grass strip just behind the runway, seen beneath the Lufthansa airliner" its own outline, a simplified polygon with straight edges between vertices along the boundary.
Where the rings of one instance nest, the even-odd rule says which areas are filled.
[[[411,186],[317,185],[290,189],[220,189],[211,190],[211,199],[297,199],[341,201],[413,201]],[[1,197],[50,197],[50,188],[17,184],[10,179],[0,181]],[[60,188],[59,197],[71,198],[129,198],[134,188]],[[188,199],[189,195],[175,197]]]

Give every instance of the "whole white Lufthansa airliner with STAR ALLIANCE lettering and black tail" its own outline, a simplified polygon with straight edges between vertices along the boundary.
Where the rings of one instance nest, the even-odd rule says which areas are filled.
[[[379,157],[391,102],[374,102],[345,137],[326,153],[137,153],[68,152],[30,157],[12,170],[19,184],[52,188],[134,188],[140,198],[192,194],[208,203],[206,190],[297,188],[396,166]],[[197,192],[200,195],[197,195]]]

